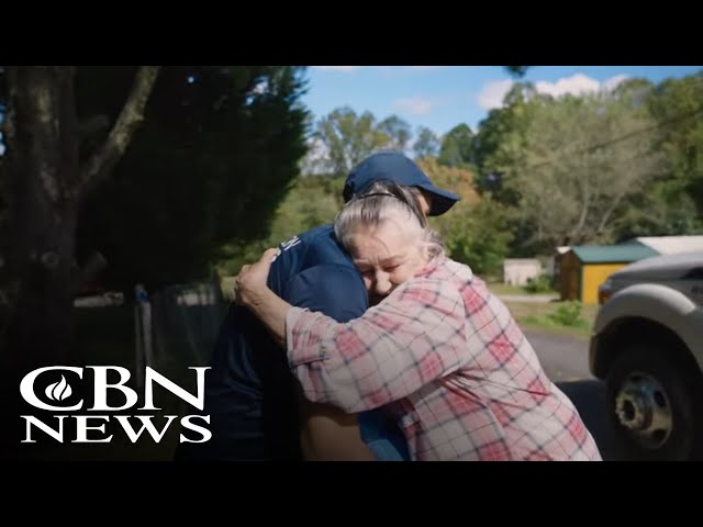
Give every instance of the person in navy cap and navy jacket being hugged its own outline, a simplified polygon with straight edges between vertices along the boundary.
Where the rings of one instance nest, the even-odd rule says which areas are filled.
[[[380,180],[415,188],[427,215],[443,214],[459,200],[435,187],[403,154],[381,152],[352,170],[345,201]],[[292,305],[323,312],[338,322],[360,316],[369,299],[373,303],[373,292],[366,291],[332,225],[281,244],[268,285]],[[210,415],[212,438],[204,444],[181,442],[177,460],[409,459],[400,428],[380,411],[348,415],[305,401],[284,354],[245,307],[231,305],[211,367],[205,374],[203,414]],[[188,437],[188,430],[182,434]]]

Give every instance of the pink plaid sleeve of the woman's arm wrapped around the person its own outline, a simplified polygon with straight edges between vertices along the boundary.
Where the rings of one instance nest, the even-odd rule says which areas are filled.
[[[466,310],[447,281],[415,279],[339,324],[292,307],[288,360],[305,396],[347,412],[400,400],[466,361]]]

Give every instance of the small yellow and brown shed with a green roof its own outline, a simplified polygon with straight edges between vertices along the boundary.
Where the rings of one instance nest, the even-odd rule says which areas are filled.
[[[651,247],[638,244],[576,246],[559,259],[561,300],[598,303],[598,288],[613,272],[633,261],[657,256]]]

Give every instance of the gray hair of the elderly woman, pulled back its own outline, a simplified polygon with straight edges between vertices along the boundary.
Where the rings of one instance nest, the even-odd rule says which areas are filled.
[[[428,248],[431,258],[444,255],[442,238],[427,224],[419,193],[416,189],[391,181],[377,181],[339,211],[334,221],[334,234],[342,246],[352,251],[353,237],[358,231],[376,228],[400,214],[406,220],[403,222],[405,231]]]

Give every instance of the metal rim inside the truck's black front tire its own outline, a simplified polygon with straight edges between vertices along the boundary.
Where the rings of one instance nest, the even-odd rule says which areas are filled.
[[[644,448],[657,449],[671,436],[673,418],[669,396],[661,384],[646,373],[631,373],[615,396],[621,425]]]

